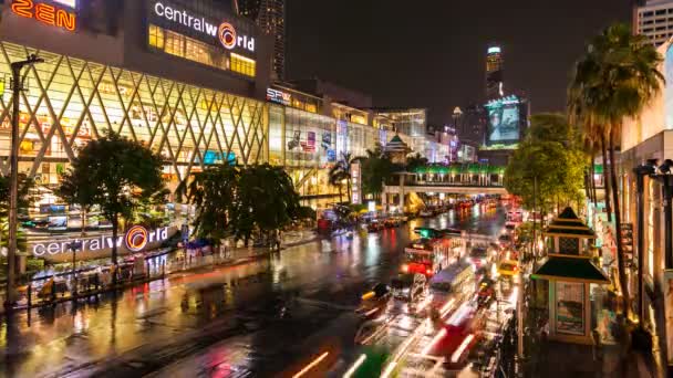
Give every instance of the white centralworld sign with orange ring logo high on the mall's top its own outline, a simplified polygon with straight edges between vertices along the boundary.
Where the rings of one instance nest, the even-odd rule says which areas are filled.
[[[186,10],[180,10],[163,2],[154,3],[154,13],[159,18],[178,23],[194,31],[217,38],[222,46],[227,50],[236,48],[245,49],[255,52],[255,38],[236,32],[232,24],[221,22],[219,25],[208,22],[204,17],[190,14]]]

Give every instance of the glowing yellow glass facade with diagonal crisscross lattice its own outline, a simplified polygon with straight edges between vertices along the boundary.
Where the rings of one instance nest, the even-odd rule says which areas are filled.
[[[20,170],[41,183],[89,140],[117,132],[165,160],[178,181],[207,165],[268,161],[265,103],[65,55],[0,42],[0,171],[7,174],[11,129],[10,63],[35,53],[21,94]]]

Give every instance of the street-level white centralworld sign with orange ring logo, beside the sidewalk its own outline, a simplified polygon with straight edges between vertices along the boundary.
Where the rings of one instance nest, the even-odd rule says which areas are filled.
[[[116,240],[116,245],[124,246],[131,252],[141,252],[143,249],[147,246],[148,243],[161,242],[168,239],[168,228],[161,228],[153,231],[148,231],[144,227],[134,225],[132,227],[125,235],[118,237]],[[105,250],[112,248],[113,239],[112,237],[101,235],[100,238],[92,239],[68,239],[58,242],[45,242],[38,243],[32,246],[33,255],[35,256],[44,256],[44,255],[58,255],[62,253],[71,253],[70,244],[71,243],[82,243],[82,252],[96,252],[101,250]]]

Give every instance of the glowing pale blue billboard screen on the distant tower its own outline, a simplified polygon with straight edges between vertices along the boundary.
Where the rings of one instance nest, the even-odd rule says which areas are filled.
[[[521,101],[517,96],[494,99],[486,104],[488,112],[487,145],[510,145],[521,136]]]

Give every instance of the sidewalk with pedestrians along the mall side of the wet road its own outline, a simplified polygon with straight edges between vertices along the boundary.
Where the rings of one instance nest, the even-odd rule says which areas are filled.
[[[309,243],[318,239],[313,231],[296,231],[283,234],[281,250]],[[187,256],[183,250],[165,251],[155,253],[145,259],[138,270],[137,264],[120,265],[120,279],[117,290],[126,288],[137,284],[163,280],[177,273],[185,273],[197,269],[216,266],[235,266],[269,256],[270,248],[237,248],[220,253],[209,253],[200,256]],[[178,258],[182,256],[182,258]],[[124,267],[122,267],[124,266]],[[30,285],[20,288],[20,298],[14,309],[28,309],[46,305],[55,305],[79,298],[89,298],[112,290],[110,270],[96,270],[95,272],[77,273],[73,281],[69,272],[59,273],[44,280],[33,281]],[[0,302],[3,302],[3,293],[0,293]],[[0,306],[0,314],[4,308]]]

